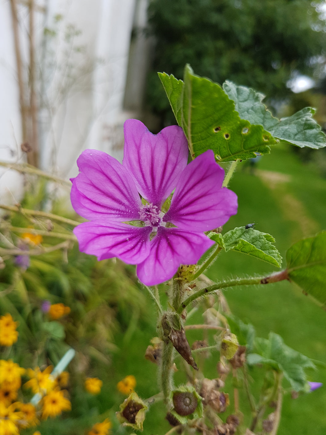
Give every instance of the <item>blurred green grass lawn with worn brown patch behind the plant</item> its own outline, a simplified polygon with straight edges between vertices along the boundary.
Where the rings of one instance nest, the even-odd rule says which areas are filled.
[[[225,225],[223,233],[256,222],[257,230],[275,237],[283,258],[286,249],[295,241],[326,228],[326,180],[319,177],[314,167],[303,165],[286,146],[274,147],[272,154],[259,161],[254,174],[250,174],[248,167],[243,170],[240,164],[230,188],[239,196],[239,211]],[[207,274],[212,279],[221,279],[272,271],[276,268],[269,264],[230,251],[222,254]],[[258,336],[267,338],[269,331],[274,331],[290,347],[310,358],[326,361],[326,312],[304,296],[295,284],[281,282],[230,288],[225,296],[233,314],[252,323]],[[148,318],[142,319],[127,338],[123,334],[116,335],[116,345],[120,349],[113,355],[111,367],[103,374],[101,392],[103,411],[112,407],[112,415],[116,403],[124,398],[116,391],[116,383],[124,376],[136,376],[136,391],[143,398],[158,391],[156,366],[143,357],[150,339],[156,335],[152,308],[153,313],[149,312]],[[217,375],[217,358],[218,355],[212,355],[208,360],[212,377]],[[176,378],[181,381],[180,376]],[[296,400],[285,396],[279,435],[326,434],[326,370],[310,372],[309,380],[324,382],[324,386]],[[166,433],[170,425],[163,420],[164,415],[163,405],[154,405],[146,417],[143,433]],[[121,429],[118,432],[122,433]]]

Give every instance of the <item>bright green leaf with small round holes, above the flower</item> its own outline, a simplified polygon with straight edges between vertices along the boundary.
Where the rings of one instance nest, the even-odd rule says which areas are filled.
[[[178,124],[188,139],[192,158],[213,150],[218,162],[268,154],[276,143],[261,125],[240,119],[234,102],[216,83],[193,74],[186,65],[184,81],[160,74]],[[181,92],[180,92],[181,91]]]

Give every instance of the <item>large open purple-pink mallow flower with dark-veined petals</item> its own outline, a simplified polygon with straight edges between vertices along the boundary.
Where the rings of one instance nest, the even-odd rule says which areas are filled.
[[[181,127],[152,134],[129,119],[124,136],[123,164],[96,150],[83,151],[78,158],[80,174],[72,179],[71,202],[90,222],[73,232],[80,251],[98,260],[118,257],[137,264],[140,281],[155,285],[170,279],[180,264],[196,264],[214,244],[203,232],[236,214],[237,197],[222,187],[224,171],[213,151],[187,164]],[[164,213],[163,204],[174,189]]]

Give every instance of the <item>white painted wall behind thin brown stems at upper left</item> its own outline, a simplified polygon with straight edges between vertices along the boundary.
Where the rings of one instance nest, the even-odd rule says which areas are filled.
[[[42,7],[36,23],[37,65],[42,77],[38,95],[43,170],[64,178],[75,176],[76,159],[86,148],[122,158],[123,122],[135,116],[135,111],[123,110],[130,36],[135,13],[140,13],[136,3],[144,10],[144,1],[37,2]],[[21,36],[26,42],[28,15],[22,5],[20,16]],[[45,37],[44,27],[50,30]],[[67,41],[68,29],[70,34],[71,29],[80,30],[80,34]],[[135,81],[143,83],[144,74],[140,68]],[[20,144],[10,2],[0,0],[0,160],[24,161]],[[18,201],[20,187],[21,177],[16,172],[0,168],[0,202]]]

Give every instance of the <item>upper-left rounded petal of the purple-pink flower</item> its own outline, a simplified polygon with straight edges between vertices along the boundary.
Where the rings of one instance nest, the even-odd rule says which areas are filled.
[[[71,203],[86,219],[139,219],[140,197],[128,171],[103,151],[86,150],[77,160],[80,174],[72,179]]]

